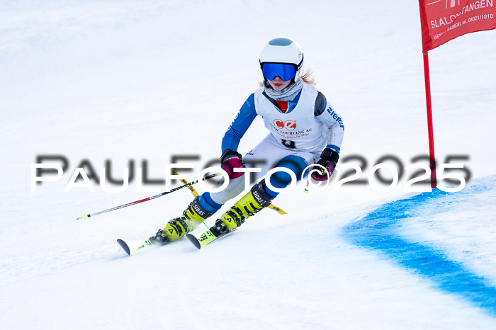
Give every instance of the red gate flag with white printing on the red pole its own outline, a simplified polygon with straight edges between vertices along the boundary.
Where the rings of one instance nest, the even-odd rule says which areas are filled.
[[[492,1],[419,0],[424,52],[460,35],[496,28]]]

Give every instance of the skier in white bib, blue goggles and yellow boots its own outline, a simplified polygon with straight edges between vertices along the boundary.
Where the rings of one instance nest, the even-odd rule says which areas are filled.
[[[227,200],[242,193],[246,174],[234,169],[244,168],[244,161],[264,160],[259,166],[259,177],[274,167],[283,167],[300,179],[304,169],[315,163],[329,173],[327,175],[322,167],[315,166],[314,169],[320,170],[312,171],[315,181],[326,181],[334,171],[344,125],[324,94],[317,91],[310,74],[301,74],[303,52],[300,45],[291,38],[274,38],[262,48],[259,62],[264,76],[262,86],[244,102],[222,138],[221,168],[229,175],[229,185],[218,193],[203,193],[195,198],[181,217],[169,221],[155,237],[150,237],[153,244],[168,244],[184,237]],[[257,115],[264,119],[270,133],[242,158],[237,152],[239,141]],[[291,183],[291,176],[278,171],[271,176],[270,183],[274,188],[285,188]],[[270,205],[277,195],[266,185],[266,179],[262,179],[210,230],[220,236],[236,229],[247,217]]]

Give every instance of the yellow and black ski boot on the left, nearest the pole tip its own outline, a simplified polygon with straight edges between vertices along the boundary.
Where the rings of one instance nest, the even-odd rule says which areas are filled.
[[[198,197],[191,202],[181,217],[176,217],[169,221],[164,229],[159,229],[154,237],[150,237],[153,244],[165,245],[171,241],[176,241],[195,229],[212,213],[203,210],[198,204]]]

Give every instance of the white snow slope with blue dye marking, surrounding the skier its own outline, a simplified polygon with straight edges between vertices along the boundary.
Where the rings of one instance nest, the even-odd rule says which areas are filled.
[[[135,180],[64,193],[84,160],[98,173],[109,159],[114,178],[145,160],[158,179],[196,154],[196,178],[277,35],[300,42],[344,116],[342,159],[365,157],[363,178],[386,154],[411,164],[427,124],[418,5],[403,2],[2,1],[2,329],[494,329],[494,31],[429,52],[436,157],[468,156],[473,178],[460,193],[405,195],[410,173],[388,193],[298,186],[274,201],[288,215],[264,210],[202,251],[179,241],[133,258],[115,239],[150,237],[187,190],[84,222],[154,193]],[[257,119],[240,152],[264,135]],[[31,193],[43,154],[69,168]]]

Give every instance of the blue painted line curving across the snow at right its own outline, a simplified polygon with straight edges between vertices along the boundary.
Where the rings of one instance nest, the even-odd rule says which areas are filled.
[[[343,234],[353,244],[382,251],[401,266],[432,280],[440,290],[459,295],[496,316],[496,288],[487,284],[484,278],[470,273],[461,263],[449,260],[442,251],[400,237],[396,229],[401,227],[402,220],[412,217],[412,212],[432,207],[429,204],[436,199],[446,198],[445,203],[456,203],[460,194],[466,198],[467,193],[477,193],[478,190],[480,188],[472,186],[450,194],[435,189],[432,193],[396,200],[352,222],[344,228]]]

